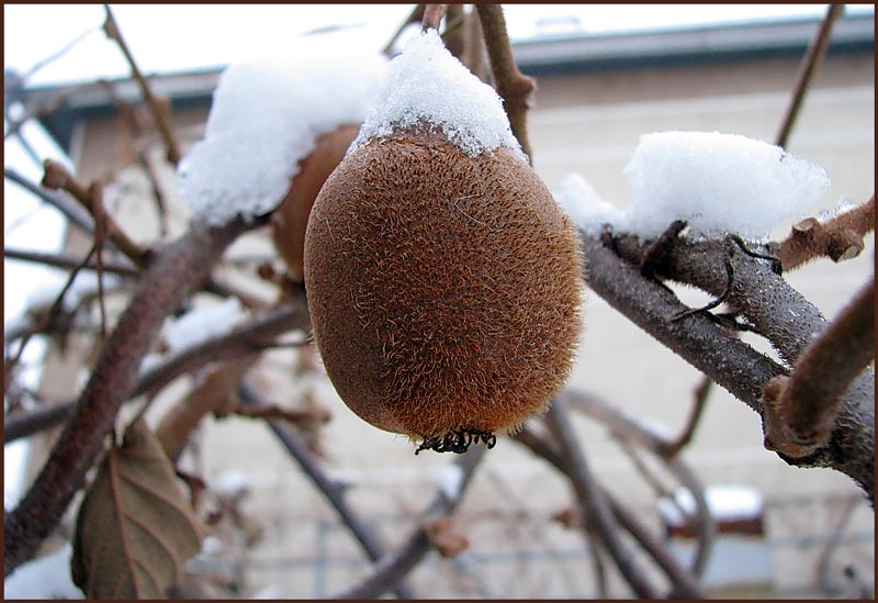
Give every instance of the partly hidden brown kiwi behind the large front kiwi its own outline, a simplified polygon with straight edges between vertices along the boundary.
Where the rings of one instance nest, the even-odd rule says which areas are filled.
[[[271,214],[274,248],[296,278],[302,278],[305,271],[305,227],[311,208],[326,178],[345,158],[359,132],[359,125],[346,124],[317,137],[314,149],[299,163],[299,172],[293,177],[290,190]]]

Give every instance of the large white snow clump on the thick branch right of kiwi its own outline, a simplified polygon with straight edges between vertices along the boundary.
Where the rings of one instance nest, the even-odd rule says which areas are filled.
[[[682,219],[695,236],[762,239],[803,214],[830,183],[822,168],[778,146],[719,132],[643,135],[624,175],[630,225],[644,238]]]

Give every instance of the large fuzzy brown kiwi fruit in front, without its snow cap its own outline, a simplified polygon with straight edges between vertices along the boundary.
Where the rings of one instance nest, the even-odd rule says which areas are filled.
[[[421,438],[543,410],[581,331],[575,230],[507,148],[403,132],[349,155],[305,238],[314,336],[341,399]]]

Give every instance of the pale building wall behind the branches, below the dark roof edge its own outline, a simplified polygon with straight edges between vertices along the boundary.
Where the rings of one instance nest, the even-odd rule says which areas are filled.
[[[578,172],[601,197],[623,206],[628,188],[622,169],[641,134],[718,130],[772,142],[797,68],[796,60],[772,59],[541,77],[530,113],[534,167],[551,189],[558,189],[565,175]],[[792,153],[823,166],[832,180],[830,192],[814,211],[834,206],[842,196],[864,201],[873,193],[874,108],[874,57],[829,57],[788,145]],[[204,112],[196,110],[176,115],[188,144],[201,135],[204,118]],[[121,142],[114,122],[93,121],[85,127],[80,175],[87,179],[104,177],[108,166],[113,171],[121,169]],[[172,174],[166,169],[162,178],[173,206],[176,232],[180,232],[185,209],[176,198]],[[145,180],[130,171],[123,172],[122,186],[111,191],[111,198],[120,203],[120,222],[142,241],[153,239],[158,232],[155,219],[150,217],[154,211],[139,197],[147,191]],[[779,226],[776,234],[783,236],[788,226]],[[271,247],[264,236],[248,235],[230,253],[269,255]],[[789,280],[832,317],[874,270],[873,253],[870,236],[868,248],[859,258],[841,265],[821,260],[789,275]],[[271,299],[269,289],[262,288],[262,292]],[[689,290],[680,291],[680,297],[693,304],[706,299]],[[588,295],[585,323],[570,386],[595,392],[644,422],[677,433],[689,412],[698,372],[595,294]],[[766,347],[758,342],[754,345]],[[261,364],[266,370],[260,372],[258,384],[272,402],[299,403],[302,382],[288,369],[277,368],[289,366],[293,354],[275,350]],[[324,433],[329,451],[324,462],[326,470],[349,485],[349,502],[380,531],[385,541],[398,541],[435,490],[436,471],[450,459],[435,454],[415,457],[413,445],[404,437],[380,432],[348,411],[328,381],[317,379],[315,383],[320,403],[334,415]],[[166,407],[170,402],[167,400],[165,406],[159,403],[157,407]],[[577,417],[575,427],[601,481],[655,524],[654,494],[618,445],[593,421]],[[753,485],[775,510],[787,509],[785,501],[800,501],[802,496],[813,504],[828,500],[829,495],[844,500],[858,496],[846,477],[830,470],[791,468],[766,451],[762,440],[759,417],[727,392],[716,389],[684,458],[705,483]],[[209,481],[237,471],[247,477],[254,490],[247,507],[267,527],[263,544],[251,559],[254,584],[278,583],[289,596],[325,595],[365,571],[358,549],[338,527],[334,512],[264,425],[239,418],[211,420],[204,425],[200,442],[198,467]],[[509,580],[521,582],[514,592],[506,592],[507,596],[588,594],[587,583],[571,578],[581,573],[576,569],[584,562],[581,557],[554,566],[549,563],[551,551],[582,552],[581,537],[575,532],[564,532],[550,520],[569,502],[566,483],[515,443],[500,440],[489,453],[458,522],[470,534],[479,535],[471,550],[482,555],[474,558],[482,559],[483,570],[488,568],[489,580],[504,584]],[[775,514],[786,516],[778,511]],[[825,539],[828,525],[813,528],[798,525],[796,529],[819,533]],[[849,525],[853,527],[848,529],[857,534],[874,533],[874,517],[868,512],[857,513]],[[769,537],[781,541],[795,535],[791,529],[783,522],[774,522]],[[532,570],[536,573],[530,578],[521,573],[530,570],[516,569],[518,566],[502,560],[504,550],[525,550],[529,543],[542,551],[537,555],[533,567],[538,569]],[[864,550],[859,550],[860,557],[865,556],[867,561],[874,559],[874,547],[866,546]],[[801,578],[802,556],[814,565],[820,547],[796,548],[793,552],[798,557],[791,561],[791,554],[783,546],[770,549],[775,583],[807,590],[811,583],[810,578]],[[862,560],[859,565],[868,566],[863,569],[868,576],[871,565]],[[441,569],[437,574],[440,577],[465,573],[450,562],[435,561],[431,567],[437,566]],[[425,571],[416,576],[420,584],[432,580]],[[485,583],[446,589],[437,585],[441,581],[434,582],[430,595],[446,590],[450,594],[496,592]],[[539,590],[543,588],[539,587],[541,583],[543,590]]]

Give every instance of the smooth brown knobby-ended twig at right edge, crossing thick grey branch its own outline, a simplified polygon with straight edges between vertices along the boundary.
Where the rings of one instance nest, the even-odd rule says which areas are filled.
[[[874,359],[875,277],[808,346],[789,377],[766,384],[766,446],[803,457],[825,445],[842,393]]]

